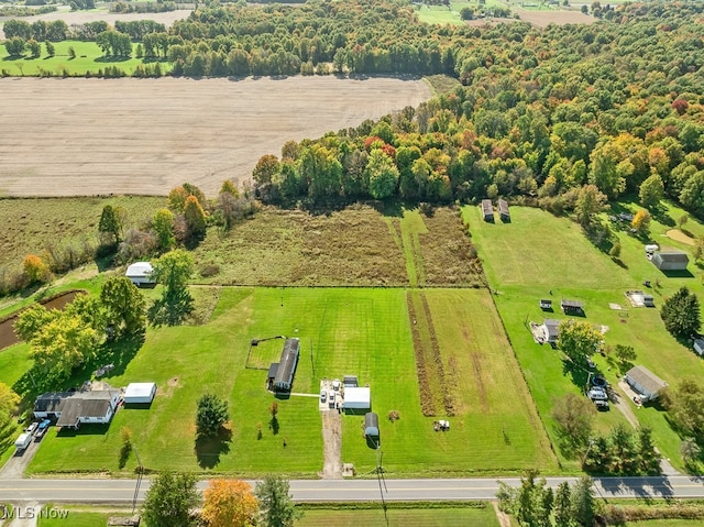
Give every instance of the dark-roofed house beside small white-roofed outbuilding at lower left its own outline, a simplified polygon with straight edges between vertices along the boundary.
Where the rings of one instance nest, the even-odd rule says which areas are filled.
[[[50,392],[36,398],[34,417],[56,419],[57,427],[74,429],[85,424],[107,425],[112,420],[119,400],[117,389]]]

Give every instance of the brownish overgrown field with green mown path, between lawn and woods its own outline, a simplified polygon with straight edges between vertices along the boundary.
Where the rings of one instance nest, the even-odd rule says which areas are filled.
[[[383,213],[354,206],[326,216],[266,207],[194,252],[198,282],[268,286],[473,286],[481,270],[457,212]]]

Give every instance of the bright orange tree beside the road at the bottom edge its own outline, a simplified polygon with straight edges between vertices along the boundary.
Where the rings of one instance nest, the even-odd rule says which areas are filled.
[[[258,502],[249,483],[240,480],[210,480],[204,492],[200,513],[208,527],[253,527]]]

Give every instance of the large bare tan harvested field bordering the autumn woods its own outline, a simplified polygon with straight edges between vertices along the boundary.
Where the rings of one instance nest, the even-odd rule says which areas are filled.
[[[0,195],[212,196],[288,140],[430,97],[417,78],[0,79]]]

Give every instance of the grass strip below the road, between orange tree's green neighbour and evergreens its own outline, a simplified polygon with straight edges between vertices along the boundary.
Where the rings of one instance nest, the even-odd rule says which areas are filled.
[[[388,519],[388,521],[387,521]],[[386,516],[380,507],[354,510],[306,510],[304,517],[296,521],[296,527],[365,527],[404,525],[418,527],[494,527],[499,523],[491,505],[482,508],[388,508]]]

